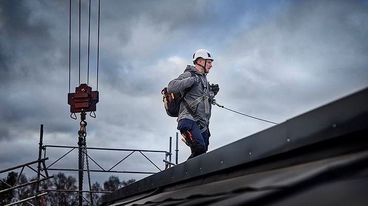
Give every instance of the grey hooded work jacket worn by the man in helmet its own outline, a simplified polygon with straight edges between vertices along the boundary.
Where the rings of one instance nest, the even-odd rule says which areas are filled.
[[[194,66],[187,65],[184,73],[181,74],[178,78],[172,80],[167,86],[167,91],[169,93],[178,93],[185,92],[186,88],[189,88],[194,83],[194,72],[196,77],[200,79],[199,85],[194,85],[189,91],[187,91],[184,100],[188,103],[189,107],[195,113],[195,116],[199,118],[199,124],[201,132],[203,132],[209,125],[211,118],[211,104],[209,97],[209,91],[211,91],[210,83],[207,81],[206,74],[200,73]],[[186,111],[184,106],[184,102],[180,105],[180,112],[178,117],[178,122],[183,119],[191,119],[193,121],[194,118]]]

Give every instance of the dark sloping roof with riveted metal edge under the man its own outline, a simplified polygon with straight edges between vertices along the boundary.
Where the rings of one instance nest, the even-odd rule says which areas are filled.
[[[120,188],[102,205],[363,205],[367,119],[368,88]]]

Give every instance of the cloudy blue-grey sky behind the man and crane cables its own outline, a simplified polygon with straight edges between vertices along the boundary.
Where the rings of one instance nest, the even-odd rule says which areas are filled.
[[[95,90],[98,1],[91,3]],[[82,0],[81,83],[87,82],[88,8]],[[78,12],[72,0],[71,92],[79,78]],[[270,121],[368,87],[365,0],[103,0],[100,12],[100,102],[97,118],[87,117],[88,147],[168,150],[177,122],[166,115],[160,92],[201,48],[215,58],[208,79],[220,85],[218,103]],[[37,159],[40,124],[44,144],[76,146],[79,122],[67,104],[69,0],[0,0],[0,92],[0,169]],[[210,150],[271,126],[214,107]],[[179,150],[183,162],[189,148],[180,142]],[[48,163],[67,151],[48,148]],[[89,153],[106,169],[129,154]],[[163,169],[164,154],[146,155]],[[76,167],[72,152],[54,168]],[[139,153],[115,169],[158,171]],[[103,182],[110,175],[91,177]]]

